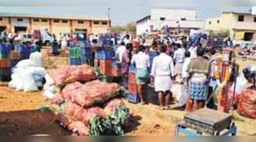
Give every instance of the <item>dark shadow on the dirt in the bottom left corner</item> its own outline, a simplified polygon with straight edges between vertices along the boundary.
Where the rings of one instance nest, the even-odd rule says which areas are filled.
[[[55,122],[51,111],[10,111],[0,112],[0,116],[0,136],[70,135],[70,132]]]

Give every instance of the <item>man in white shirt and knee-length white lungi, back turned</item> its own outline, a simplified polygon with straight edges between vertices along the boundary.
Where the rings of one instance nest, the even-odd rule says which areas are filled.
[[[160,109],[169,107],[171,97],[172,78],[174,76],[174,66],[172,57],[166,55],[166,46],[161,45],[161,54],[154,58],[151,72],[151,82],[154,82],[155,91],[158,94]],[[163,104],[165,96],[165,104]],[[165,107],[164,107],[165,106]]]

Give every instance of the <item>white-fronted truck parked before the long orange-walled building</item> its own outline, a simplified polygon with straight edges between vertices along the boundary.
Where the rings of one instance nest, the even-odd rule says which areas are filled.
[[[49,46],[54,41],[54,36],[47,29],[35,30],[33,34],[35,41],[40,41],[42,45]]]

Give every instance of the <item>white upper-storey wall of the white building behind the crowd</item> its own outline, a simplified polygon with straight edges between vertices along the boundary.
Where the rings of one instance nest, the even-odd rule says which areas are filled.
[[[172,10],[172,9],[152,9],[151,20],[160,20],[160,17],[166,18],[166,20],[196,20],[195,10]]]

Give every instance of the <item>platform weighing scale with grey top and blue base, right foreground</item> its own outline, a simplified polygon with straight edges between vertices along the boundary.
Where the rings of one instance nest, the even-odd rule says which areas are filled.
[[[235,74],[237,75],[238,65],[236,62],[223,62],[229,62],[233,64],[236,67]],[[212,67],[210,66],[209,71],[211,71],[211,68]],[[234,83],[236,84],[236,79],[234,80]],[[234,85],[232,104],[234,104],[235,92],[236,85]],[[212,95],[213,93],[209,99],[211,99]],[[207,100],[206,104],[207,103],[209,103],[209,100]],[[203,134],[208,134],[211,136],[236,136],[237,127],[234,122],[232,122],[232,113],[224,113],[221,111],[211,110],[206,108],[206,104],[205,108],[195,112],[186,113],[186,115],[184,115],[182,122],[180,122],[180,124],[175,127],[175,136],[179,136],[180,133],[188,136],[202,136]]]

